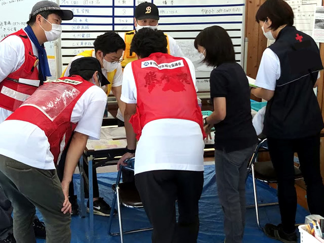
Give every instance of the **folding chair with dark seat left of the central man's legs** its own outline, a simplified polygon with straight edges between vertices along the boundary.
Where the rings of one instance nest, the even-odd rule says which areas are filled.
[[[136,189],[135,183],[132,182],[123,182],[120,183],[120,176],[122,170],[130,170],[134,171],[134,163],[135,158],[131,158],[125,161],[127,163],[127,166],[120,166],[120,170],[117,174],[116,184],[112,185],[112,190],[114,191],[114,196],[112,199],[111,204],[111,212],[109,217],[109,224],[108,224],[108,234],[111,236],[120,235],[120,241],[121,243],[124,242],[123,235],[134,233],[134,232],[141,232],[146,230],[151,230],[153,228],[141,228],[141,229],[134,229],[129,231],[123,231],[123,224],[121,220],[121,205],[127,207],[127,208],[143,208],[143,204],[140,198],[140,195],[138,194],[138,191]],[[117,201],[117,211],[118,211],[118,223],[119,223],[119,232],[112,233],[111,232],[111,225],[112,225],[112,215],[113,211],[116,205]]]

